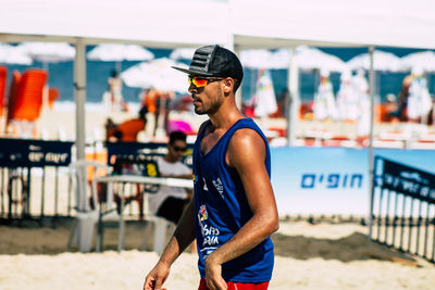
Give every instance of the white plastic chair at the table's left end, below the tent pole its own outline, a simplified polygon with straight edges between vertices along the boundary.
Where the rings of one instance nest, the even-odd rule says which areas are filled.
[[[89,168],[94,169],[90,188],[87,178]],[[91,249],[94,231],[99,218],[99,202],[95,179],[97,174],[101,175],[101,172],[102,174],[110,174],[111,167],[87,160],[78,160],[70,164],[70,182],[74,184],[75,181],[74,209],[76,211],[76,219],[71,229],[67,248],[71,248],[74,236],[76,236],[76,243],[80,252],[89,252]],[[89,197],[91,198],[90,200]],[[90,206],[90,203],[94,204],[94,209]],[[109,206],[111,204],[112,201],[108,202]]]

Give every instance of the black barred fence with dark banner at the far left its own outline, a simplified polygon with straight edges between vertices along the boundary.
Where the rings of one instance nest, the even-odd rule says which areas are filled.
[[[60,197],[67,191],[61,172],[71,163],[72,148],[73,142],[0,139],[0,217],[58,216]]]

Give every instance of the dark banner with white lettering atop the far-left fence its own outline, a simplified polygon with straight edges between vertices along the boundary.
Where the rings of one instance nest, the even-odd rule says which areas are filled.
[[[0,139],[0,166],[69,166],[74,142]]]

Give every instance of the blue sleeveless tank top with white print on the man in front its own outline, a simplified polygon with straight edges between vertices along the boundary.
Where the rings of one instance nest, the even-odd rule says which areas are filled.
[[[207,153],[200,144],[208,121],[194,146],[195,230],[198,248],[198,268],[206,277],[204,259],[228,241],[251,217],[244,186],[235,168],[226,164],[226,150],[234,133],[241,128],[256,130],[266,146],[265,166],[271,175],[268,140],[251,118],[237,121]],[[270,238],[249,252],[222,265],[222,277],[233,282],[264,282],[271,280],[274,263]]]

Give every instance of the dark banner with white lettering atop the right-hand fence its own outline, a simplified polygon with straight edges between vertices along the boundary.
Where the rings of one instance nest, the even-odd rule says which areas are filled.
[[[384,163],[383,174],[378,179],[382,188],[435,203],[435,175],[382,157],[381,160]]]

